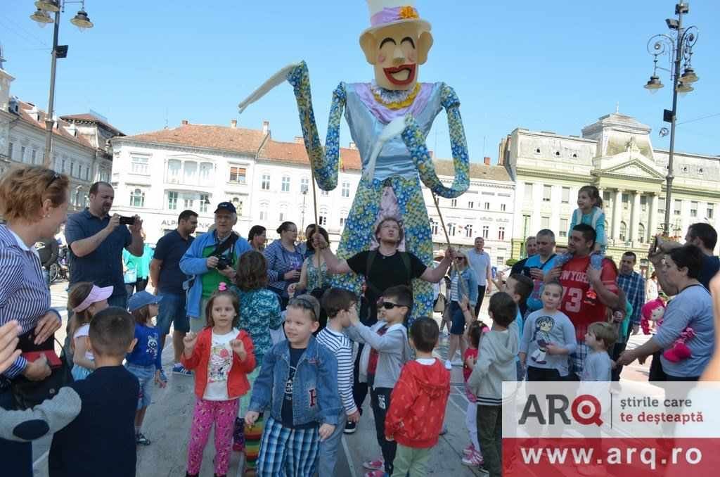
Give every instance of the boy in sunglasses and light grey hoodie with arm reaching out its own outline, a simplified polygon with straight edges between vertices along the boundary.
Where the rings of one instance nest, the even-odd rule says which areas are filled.
[[[392,474],[397,442],[385,439],[385,414],[390,409],[390,393],[400,378],[402,365],[410,359],[408,330],[403,322],[412,308],[413,292],[409,287],[390,287],[384,291],[382,305],[378,306],[380,320],[376,324],[365,326],[354,313],[351,326],[346,329],[348,338],[366,344],[360,355],[359,380],[370,386],[375,433],[382,450],[382,459],[363,463],[369,471],[365,477]]]

